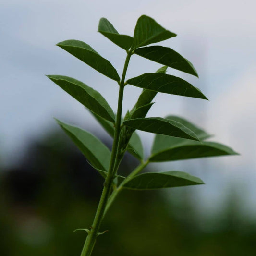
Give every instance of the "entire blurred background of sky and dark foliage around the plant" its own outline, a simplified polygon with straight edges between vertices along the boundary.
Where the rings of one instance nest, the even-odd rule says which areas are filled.
[[[206,185],[123,191],[111,207],[93,255],[226,256],[256,254],[256,2],[253,0],[2,0],[0,6],[0,251],[3,256],[79,255],[103,180],[54,122],[85,128],[109,147],[110,136],[44,74],[74,77],[116,110],[118,86],[55,46],[85,41],[119,73],[125,51],[97,33],[106,17],[132,36],[146,14],[178,34],[160,43],[190,60],[199,79],[183,77],[209,98],[158,94],[148,116],[181,115],[241,156],[149,165],[186,171]],[[133,56],[131,78],[155,72]],[[125,87],[123,112],[140,89]],[[139,132],[150,153],[153,134]],[[126,155],[122,174],[137,165]]]

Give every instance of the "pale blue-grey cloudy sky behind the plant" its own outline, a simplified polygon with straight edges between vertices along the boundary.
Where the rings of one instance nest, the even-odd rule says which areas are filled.
[[[117,85],[55,44],[66,39],[85,41],[121,73],[125,51],[97,32],[98,21],[106,17],[119,33],[132,36],[136,20],[146,14],[178,34],[159,44],[190,60],[199,79],[171,68],[168,73],[183,77],[209,98],[205,101],[158,94],[148,116],[182,115],[215,134],[216,141],[241,153],[239,157],[204,160],[211,166],[208,168],[211,174],[209,170],[200,174],[207,180],[212,198],[225,190],[227,181],[239,182],[244,184],[247,201],[251,202],[256,192],[253,184],[256,178],[255,10],[254,0],[2,0],[2,164],[17,163],[30,140],[57,129],[53,117],[90,131],[100,131],[84,107],[44,75],[62,74],[82,80],[98,90],[113,109],[117,107]],[[158,68],[157,63],[133,56],[127,78]],[[138,88],[125,87],[123,111],[133,106],[134,95],[139,93]],[[139,134],[148,154],[153,135]],[[185,167],[190,165],[197,167],[200,164],[197,160],[189,160]],[[215,182],[211,183],[211,179]],[[223,187],[219,194],[216,193],[218,182]],[[206,190],[203,188],[202,191]]]

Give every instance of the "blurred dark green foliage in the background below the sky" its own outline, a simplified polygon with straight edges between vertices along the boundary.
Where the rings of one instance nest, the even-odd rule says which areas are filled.
[[[123,174],[135,163],[127,155]],[[79,255],[86,232],[73,230],[90,226],[103,179],[65,135],[52,133],[34,143],[18,168],[0,175],[0,255]],[[216,216],[219,225],[206,232],[191,190],[171,191],[182,203],[167,204],[160,192],[124,190],[106,216],[102,231],[109,232],[99,236],[93,255],[255,255],[256,225],[237,215],[234,196],[224,214]]]

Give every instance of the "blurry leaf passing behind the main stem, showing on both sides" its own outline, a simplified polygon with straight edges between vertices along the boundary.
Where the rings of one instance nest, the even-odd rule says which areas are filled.
[[[113,123],[99,117],[98,115],[95,115],[93,112],[91,113],[101,124],[101,126],[106,130],[106,132],[110,134],[110,136],[113,138],[115,133]],[[142,142],[137,133],[133,133],[129,141],[127,150],[129,151],[130,154],[132,154],[135,158],[138,158],[139,160],[142,160],[144,158]]]

